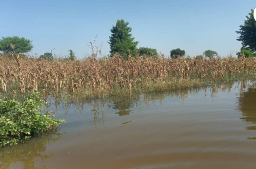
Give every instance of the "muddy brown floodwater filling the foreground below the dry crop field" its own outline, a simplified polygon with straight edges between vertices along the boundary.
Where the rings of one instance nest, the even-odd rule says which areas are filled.
[[[256,168],[256,85],[48,100],[61,129],[0,150],[0,168]],[[56,107],[55,107],[56,106]]]

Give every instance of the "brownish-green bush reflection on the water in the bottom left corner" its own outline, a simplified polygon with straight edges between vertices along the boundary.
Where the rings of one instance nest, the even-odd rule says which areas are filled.
[[[58,141],[61,135],[63,134],[55,130],[25,143],[2,148],[0,151],[0,168],[13,168],[11,165],[15,163],[21,163],[23,168],[29,169],[46,168],[45,165],[36,167],[34,160],[39,158],[43,164],[47,158],[51,157],[53,153],[46,153],[47,144]]]

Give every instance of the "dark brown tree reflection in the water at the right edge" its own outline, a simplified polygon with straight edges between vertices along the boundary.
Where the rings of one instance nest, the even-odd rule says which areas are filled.
[[[249,124],[256,124],[256,85],[253,84],[241,90],[238,98],[238,108],[242,111],[241,119]],[[247,130],[256,130],[256,126],[247,126]],[[256,139],[256,137],[248,137],[248,139]]]

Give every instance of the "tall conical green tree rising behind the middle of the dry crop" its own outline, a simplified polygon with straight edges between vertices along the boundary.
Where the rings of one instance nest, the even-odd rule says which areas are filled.
[[[134,41],[132,34],[132,28],[128,26],[129,22],[125,22],[123,19],[117,20],[116,25],[110,29],[111,36],[109,36],[110,56],[114,54],[120,54],[123,58],[128,58],[131,54],[135,56],[136,47],[139,43]]]

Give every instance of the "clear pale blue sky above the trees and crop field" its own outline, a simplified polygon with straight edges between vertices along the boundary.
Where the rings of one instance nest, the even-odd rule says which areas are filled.
[[[90,54],[90,39],[109,53],[110,28],[128,21],[138,47],[169,55],[174,48],[195,56],[206,49],[235,55],[239,26],[255,0],[0,0],[0,36],[23,36],[33,41],[33,53],[53,51],[78,58]]]

